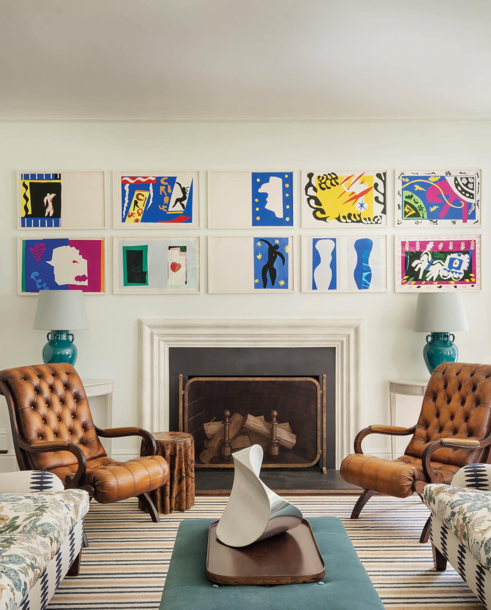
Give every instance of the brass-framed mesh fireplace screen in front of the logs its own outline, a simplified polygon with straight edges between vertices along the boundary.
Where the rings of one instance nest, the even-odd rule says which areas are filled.
[[[310,467],[321,455],[321,387],[310,377],[195,377],[187,381],[180,392],[180,422],[184,432],[191,432],[195,442],[197,468],[231,468],[233,462],[224,458],[219,449],[211,454],[205,451],[216,436],[214,445],[222,443],[224,412],[230,412],[233,422],[244,426],[233,434],[232,447],[246,447],[247,442],[259,442],[264,450],[264,468]],[[272,422],[272,411],[277,412],[278,427],[290,431],[293,447],[282,446],[277,456],[269,454],[269,442],[264,429],[251,434],[245,427],[249,422]],[[235,415],[238,414],[238,415]],[[249,418],[247,416],[249,415]],[[212,423],[214,426],[209,425]],[[205,428],[205,424],[207,425]],[[289,425],[289,427],[287,426]],[[235,426],[237,428],[237,425]],[[232,429],[232,425],[230,426]],[[271,429],[271,426],[269,426]],[[208,432],[208,436],[207,436]],[[213,433],[212,433],[213,432]],[[217,434],[218,432],[218,434]],[[248,440],[250,439],[250,441]],[[217,441],[219,440],[219,443]],[[293,442],[293,441],[292,441]],[[283,443],[285,445],[285,443]],[[286,443],[288,445],[288,443]],[[289,443],[291,445],[291,442]],[[205,453],[203,453],[205,452]],[[205,455],[207,456],[205,459]],[[202,461],[202,456],[205,461]]]

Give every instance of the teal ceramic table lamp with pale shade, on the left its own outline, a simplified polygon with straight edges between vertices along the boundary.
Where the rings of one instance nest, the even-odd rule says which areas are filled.
[[[37,298],[35,329],[50,329],[46,335],[48,343],[43,347],[43,362],[68,362],[74,365],[77,348],[73,345],[73,334],[89,328],[85,315],[82,290],[40,290]],[[65,329],[65,330],[57,330]]]

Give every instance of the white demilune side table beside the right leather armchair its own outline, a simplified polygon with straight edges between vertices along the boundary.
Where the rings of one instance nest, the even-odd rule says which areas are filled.
[[[420,417],[421,402],[427,384],[427,381],[389,381],[391,426],[410,428],[415,425]],[[396,395],[421,397],[421,399],[404,400],[404,406],[399,405],[398,407]],[[391,436],[392,459],[404,453],[410,438],[410,436]]]

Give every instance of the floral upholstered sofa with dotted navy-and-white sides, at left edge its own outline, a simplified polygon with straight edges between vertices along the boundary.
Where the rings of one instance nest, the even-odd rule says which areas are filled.
[[[44,610],[80,569],[89,494],[51,472],[0,473],[0,610]]]

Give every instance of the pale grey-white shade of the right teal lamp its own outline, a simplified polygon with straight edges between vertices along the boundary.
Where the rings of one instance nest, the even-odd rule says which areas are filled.
[[[418,295],[414,330],[421,332],[468,331],[462,293]]]

